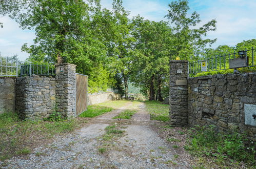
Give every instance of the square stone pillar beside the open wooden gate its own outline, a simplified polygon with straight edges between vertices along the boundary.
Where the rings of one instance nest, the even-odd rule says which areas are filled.
[[[75,116],[75,65],[56,64],[56,106],[57,112],[65,118]]]

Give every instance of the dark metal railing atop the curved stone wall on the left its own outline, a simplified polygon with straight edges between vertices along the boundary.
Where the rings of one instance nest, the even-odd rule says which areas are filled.
[[[21,66],[21,76],[26,75],[55,75],[55,67],[52,65],[22,65]]]

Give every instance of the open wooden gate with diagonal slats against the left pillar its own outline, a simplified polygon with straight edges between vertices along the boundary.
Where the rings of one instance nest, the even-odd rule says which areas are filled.
[[[76,116],[87,110],[88,76],[76,73]]]

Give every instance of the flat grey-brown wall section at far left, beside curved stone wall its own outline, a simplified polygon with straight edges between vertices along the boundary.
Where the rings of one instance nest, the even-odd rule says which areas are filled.
[[[0,77],[0,113],[15,111],[16,77]]]

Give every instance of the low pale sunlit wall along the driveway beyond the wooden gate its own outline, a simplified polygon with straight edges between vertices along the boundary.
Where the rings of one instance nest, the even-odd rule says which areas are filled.
[[[115,94],[114,92],[92,94],[92,95],[88,95],[88,105],[99,104],[102,102],[117,100],[117,99],[120,99],[120,96],[119,94]]]

